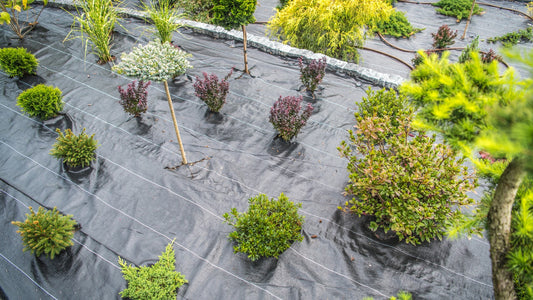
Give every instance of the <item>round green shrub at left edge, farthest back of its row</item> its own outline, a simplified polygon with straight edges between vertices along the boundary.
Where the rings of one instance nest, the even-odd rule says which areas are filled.
[[[0,0],[1,1],[1,0]],[[24,48],[0,49],[0,69],[9,77],[23,77],[26,74],[35,74],[39,62]]]

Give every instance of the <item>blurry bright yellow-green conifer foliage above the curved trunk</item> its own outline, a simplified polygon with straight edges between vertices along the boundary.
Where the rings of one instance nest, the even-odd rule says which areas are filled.
[[[439,132],[454,147],[473,142],[485,129],[488,105],[514,99],[512,91],[501,84],[511,80],[513,72],[507,70],[500,76],[496,61],[484,64],[477,53],[464,64],[450,63],[448,52],[441,58],[419,55],[422,63],[400,90],[419,109],[415,127]]]

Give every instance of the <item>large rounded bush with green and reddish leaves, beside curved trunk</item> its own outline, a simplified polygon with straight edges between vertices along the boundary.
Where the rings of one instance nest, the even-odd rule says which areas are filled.
[[[381,94],[389,96],[382,101],[395,101],[389,93]],[[349,142],[339,147],[349,160],[345,191],[354,196],[340,209],[373,216],[371,230],[393,230],[407,243],[441,239],[446,223],[461,217],[456,207],[473,203],[467,191],[476,179],[462,166],[464,158],[456,159],[457,151],[414,132],[412,109],[391,103],[369,110],[374,101],[360,107],[357,131],[350,130]]]

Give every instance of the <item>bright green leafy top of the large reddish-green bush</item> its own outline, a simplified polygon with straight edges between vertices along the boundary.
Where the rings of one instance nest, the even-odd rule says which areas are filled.
[[[398,133],[400,123],[398,120],[410,118],[413,115],[413,108],[402,94],[397,94],[394,90],[381,89],[374,91],[368,88],[367,97],[363,97],[361,102],[357,103],[358,111],[354,113],[357,122],[365,118],[388,116],[393,128],[391,134]]]

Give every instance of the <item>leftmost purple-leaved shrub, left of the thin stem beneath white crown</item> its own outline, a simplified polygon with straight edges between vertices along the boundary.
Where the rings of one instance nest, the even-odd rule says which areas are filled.
[[[150,81],[144,83],[142,80],[139,80],[137,83],[137,81],[134,80],[132,83],[128,84],[126,90],[121,86],[118,87],[118,92],[120,93],[119,103],[122,105],[125,112],[135,117],[139,117],[142,113],[146,112],[148,109],[148,91],[146,89],[150,83]]]

